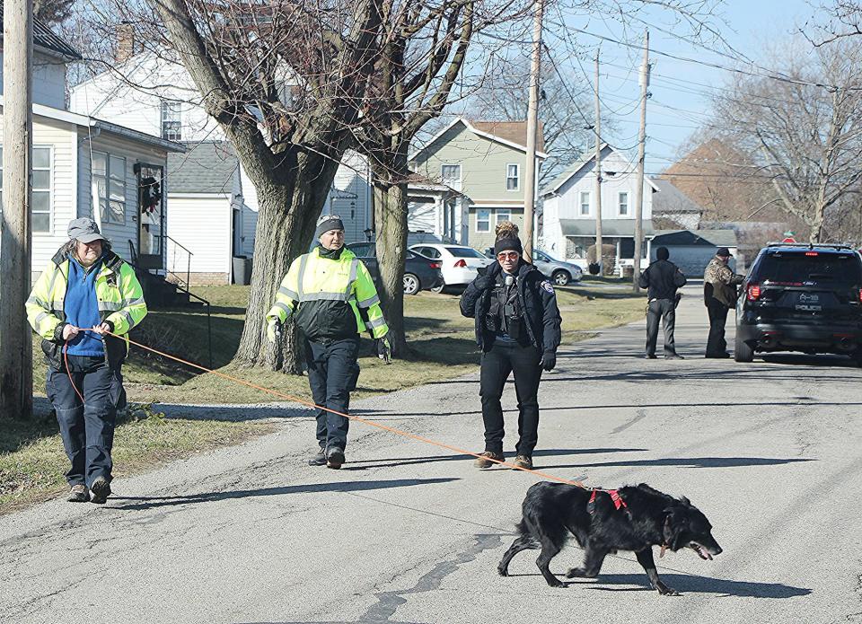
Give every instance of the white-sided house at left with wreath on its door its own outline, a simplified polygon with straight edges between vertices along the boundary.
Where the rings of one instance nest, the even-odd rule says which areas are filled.
[[[137,268],[163,273],[167,205],[147,190],[163,187],[167,155],[183,147],[66,110],[66,64],[81,56],[38,20],[33,30],[33,278],[68,241],[69,221],[80,216],[95,219],[114,250]]]

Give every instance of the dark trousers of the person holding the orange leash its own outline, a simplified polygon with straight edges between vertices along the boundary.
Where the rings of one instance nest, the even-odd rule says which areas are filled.
[[[74,358],[85,361],[89,358]],[[101,360],[98,364],[72,365],[72,379],[66,370],[48,368],[45,391],[57,412],[57,423],[63,447],[72,464],[66,472],[70,486],[90,486],[97,477],[110,481],[113,461],[110,451],[114,444],[117,410],[126,406],[123,375],[120,366],[111,367]],[[75,392],[84,395],[84,403]]]

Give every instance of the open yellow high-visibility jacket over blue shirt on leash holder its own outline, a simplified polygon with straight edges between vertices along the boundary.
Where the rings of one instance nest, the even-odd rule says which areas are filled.
[[[48,263],[48,268],[36,280],[27,300],[27,320],[42,337],[42,351],[48,365],[61,369],[63,326],[66,312],[66,286],[69,279],[69,259],[62,251]],[[144,291],[131,268],[113,251],[108,251],[96,276],[96,299],[99,302],[101,321],[113,325],[113,333],[124,336],[146,316]],[[128,354],[128,337],[125,340],[105,336],[105,357],[112,365],[122,363]]]

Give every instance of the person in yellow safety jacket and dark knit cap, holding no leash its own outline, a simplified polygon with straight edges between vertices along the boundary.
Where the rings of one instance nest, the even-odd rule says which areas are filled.
[[[320,452],[308,463],[333,469],[344,463],[346,417],[350,391],[356,390],[359,334],[371,330],[377,354],[389,362],[391,351],[377,289],[368,269],[344,246],[344,224],[337,215],[322,215],[318,246],[295,259],[267,314],[267,335],[275,342],[288,318],[303,332],[308,383],[317,411]]]

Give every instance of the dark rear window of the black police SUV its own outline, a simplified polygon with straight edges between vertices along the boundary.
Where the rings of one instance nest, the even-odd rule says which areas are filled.
[[[757,267],[757,279],[779,284],[828,283],[831,286],[859,286],[862,267],[854,253],[770,253]]]

